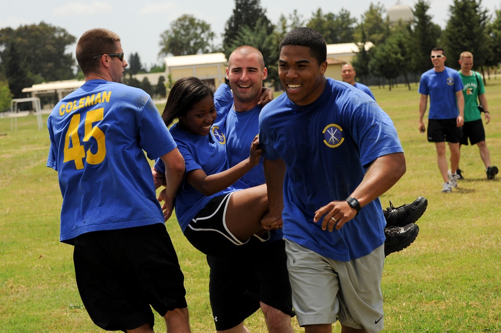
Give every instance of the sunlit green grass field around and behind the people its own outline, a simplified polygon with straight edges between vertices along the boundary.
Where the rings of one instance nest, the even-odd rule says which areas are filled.
[[[440,192],[434,145],[417,130],[419,94],[417,85],[411,88],[372,87],[407,160],[407,173],[381,197],[383,207],[419,195],[429,201],[417,240],[386,259],[384,332],[501,331],[500,182],[486,180],[477,147],[467,146],[460,162],[465,179],[452,193]],[[501,80],[487,82],[486,96],[492,116],[487,145],[492,163],[501,167]],[[35,116],[19,118],[17,131],[11,119],[0,118],[0,332],[100,332],[76,288],[73,248],[59,242],[62,199],[57,173],[45,167],[48,149],[48,131],[37,130]],[[186,277],[192,331],[214,331],[205,257],[185,240],[175,218],[167,228]],[[160,316],[155,322],[156,332],[165,331]],[[303,331],[296,319],[293,324]],[[247,326],[267,331],[261,313]],[[338,324],[333,331],[340,331]]]

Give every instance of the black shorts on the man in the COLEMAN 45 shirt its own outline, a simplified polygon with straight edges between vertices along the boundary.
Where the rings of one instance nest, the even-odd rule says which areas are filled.
[[[164,224],[84,233],[75,238],[73,261],[80,297],[103,329],[153,327],[150,305],[162,316],[187,306]]]

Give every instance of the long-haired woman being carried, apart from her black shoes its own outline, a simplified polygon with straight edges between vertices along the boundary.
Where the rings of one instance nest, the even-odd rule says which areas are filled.
[[[226,139],[217,127],[212,127],[217,115],[213,94],[214,88],[200,79],[182,78],[172,86],[162,118],[166,126],[178,119],[170,133],[186,166],[175,198],[178,223],[198,250],[227,256],[265,241],[269,237],[266,229],[281,227],[282,220],[263,227],[261,219],[268,212],[266,185],[249,188],[239,180],[259,163],[257,137],[250,146],[249,157],[228,168]],[[155,169],[164,168],[158,160]],[[159,199],[172,203],[163,191]]]

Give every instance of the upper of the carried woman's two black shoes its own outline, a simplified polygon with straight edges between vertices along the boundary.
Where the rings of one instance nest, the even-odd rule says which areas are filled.
[[[390,207],[383,211],[386,227],[403,227],[409,223],[415,223],[428,207],[428,200],[419,197],[413,203],[394,207],[390,201]]]

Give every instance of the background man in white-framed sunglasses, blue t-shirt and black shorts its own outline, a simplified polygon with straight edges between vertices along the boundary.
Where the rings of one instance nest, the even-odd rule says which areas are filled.
[[[423,117],[429,95],[428,142],[435,143],[438,169],[444,181],[442,192],[450,193],[453,187],[457,187],[456,170],[464,117],[463,84],[457,71],[445,66],[443,49],[431,50],[430,59],[433,68],[423,73],[419,82],[419,131],[423,134],[426,131]],[[450,175],[447,173],[445,142],[448,142],[450,151]]]

